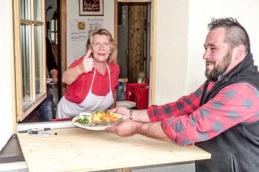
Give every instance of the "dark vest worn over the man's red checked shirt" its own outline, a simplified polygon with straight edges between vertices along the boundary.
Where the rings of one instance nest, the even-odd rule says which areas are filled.
[[[249,83],[258,89],[259,73],[257,66],[254,66],[252,54],[249,53],[223,79],[216,82],[209,92],[208,83],[205,82],[200,106],[230,84]],[[212,154],[210,160],[195,162],[196,171],[259,171],[259,121],[249,124],[238,123],[218,136],[195,145]]]

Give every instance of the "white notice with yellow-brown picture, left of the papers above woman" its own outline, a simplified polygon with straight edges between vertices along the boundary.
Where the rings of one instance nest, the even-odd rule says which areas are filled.
[[[71,40],[87,41],[87,24],[85,20],[71,20]]]

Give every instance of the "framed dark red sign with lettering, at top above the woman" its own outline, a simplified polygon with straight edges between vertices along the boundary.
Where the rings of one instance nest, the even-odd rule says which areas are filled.
[[[80,16],[103,16],[104,1],[103,0],[79,0]]]

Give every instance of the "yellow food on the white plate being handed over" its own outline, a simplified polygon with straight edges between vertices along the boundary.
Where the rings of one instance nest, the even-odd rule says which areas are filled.
[[[92,112],[91,114],[93,115],[91,119],[91,121],[93,122],[114,123],[120,118],[117,114],[114,114],[113,112],[109,112],[109,111],[107,112],[96,111],[96,112]]]

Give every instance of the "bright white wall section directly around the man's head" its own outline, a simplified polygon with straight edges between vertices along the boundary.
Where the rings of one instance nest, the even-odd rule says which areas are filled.
[[[213,7],[213,8],[212,8]],[[259,1],[236,0],[197,0],[190,1],[189,40],[188,40],[188,75],[185,93],[191,93],[205,82],[205,63],[203,44],[207,35],[207,23],[211,18],[232,16],[247,29],[251,41],[251,53],[255,63],[259,64]]]

